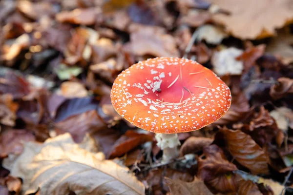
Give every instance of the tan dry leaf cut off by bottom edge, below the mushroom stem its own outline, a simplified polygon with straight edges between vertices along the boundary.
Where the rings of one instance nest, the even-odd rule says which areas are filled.
[[[196,176],[192,182],[173,180],[165,177],[171,195],[213,195],[204,181]]]

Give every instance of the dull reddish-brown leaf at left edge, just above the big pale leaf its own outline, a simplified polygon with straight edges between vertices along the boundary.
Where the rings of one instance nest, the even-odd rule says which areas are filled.
[[[8,129],[0,135],[0,157],[9,154],[20,155],[23,150],[23,143],[34,141],[35,136],[27,130]]]

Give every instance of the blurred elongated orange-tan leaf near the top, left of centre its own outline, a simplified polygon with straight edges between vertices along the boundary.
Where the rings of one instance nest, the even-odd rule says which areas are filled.
[[[99,13],[101,13],[101,10],[98,8],[74,9],[58,13],[56,20],[73,24],[93,25]]]

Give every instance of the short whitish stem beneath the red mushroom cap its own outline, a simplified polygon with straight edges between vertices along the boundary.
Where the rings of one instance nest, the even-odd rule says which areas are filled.
[[[163,150],[162,162],[167,162],[179,156],[180,141],[177,134],[156,134],[157,146]]]

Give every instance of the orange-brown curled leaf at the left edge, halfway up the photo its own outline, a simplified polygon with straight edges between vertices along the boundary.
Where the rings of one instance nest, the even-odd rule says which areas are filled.
[[[11,94],[0,95],[0,123],[13,127],[15,125],[18,104],[13,102]]]

